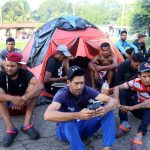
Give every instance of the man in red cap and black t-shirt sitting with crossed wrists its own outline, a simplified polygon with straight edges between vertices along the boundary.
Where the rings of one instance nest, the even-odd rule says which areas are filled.
[[[40,137],[39,132],[31,125],[31,119],[36,97],[43,85],[30,71],[20,68],[20,64],[23,64],[21,59],[20,53],[9,53],[5,71],[0,71],[0,113],[7,128],[2,139],[4,147],[10,146],[18,134],[10,115],[25,114],[21,130],[33,140]]]

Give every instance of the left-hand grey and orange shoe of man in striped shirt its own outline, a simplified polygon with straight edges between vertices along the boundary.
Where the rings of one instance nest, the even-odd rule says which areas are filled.
[[[125,127],[125,125],[122,123],[119,125],[119,128],[118,128],[118,132],[117,132],[117,135],[116,135],[116,138],[120,138],[122,137],[123,135],[125,135],[126,133],[130,132],[130,127]]]

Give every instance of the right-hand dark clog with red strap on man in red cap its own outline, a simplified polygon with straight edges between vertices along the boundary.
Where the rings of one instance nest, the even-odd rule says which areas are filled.
[[[32,126],[21,126],[21,130],[24,134],[28,135],[32,140],[37,140],[40,138],[39,132]]]

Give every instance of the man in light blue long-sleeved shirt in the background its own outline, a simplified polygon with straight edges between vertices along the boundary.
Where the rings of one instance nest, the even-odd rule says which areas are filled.
[[[121,52],[121,54],[125,59],[130,59],[131,58],[130,54],[132,54],[132,52],[138,53],[138,49],[135,45],[126,40],[127,40],[127,31],[121,31],[120,39],[116,42],[115,46]],[[128,52],[126,52],[126,49],[128,48],[132,48],[133,50],[130,49],[130,51],[128,50]]]

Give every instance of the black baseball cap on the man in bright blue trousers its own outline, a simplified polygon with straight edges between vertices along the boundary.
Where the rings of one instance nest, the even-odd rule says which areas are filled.
[[[67,72],[67,79],[68,79],[68,80],[71,80],[71,79],[74,77],[74,75],[75,75],[76,73],[84,74],[85,72],[84,72],[84,70],[81,69],[79,66],[72,66],[72,67],[70,67],[70,68],[68,69],[68,72]]]

